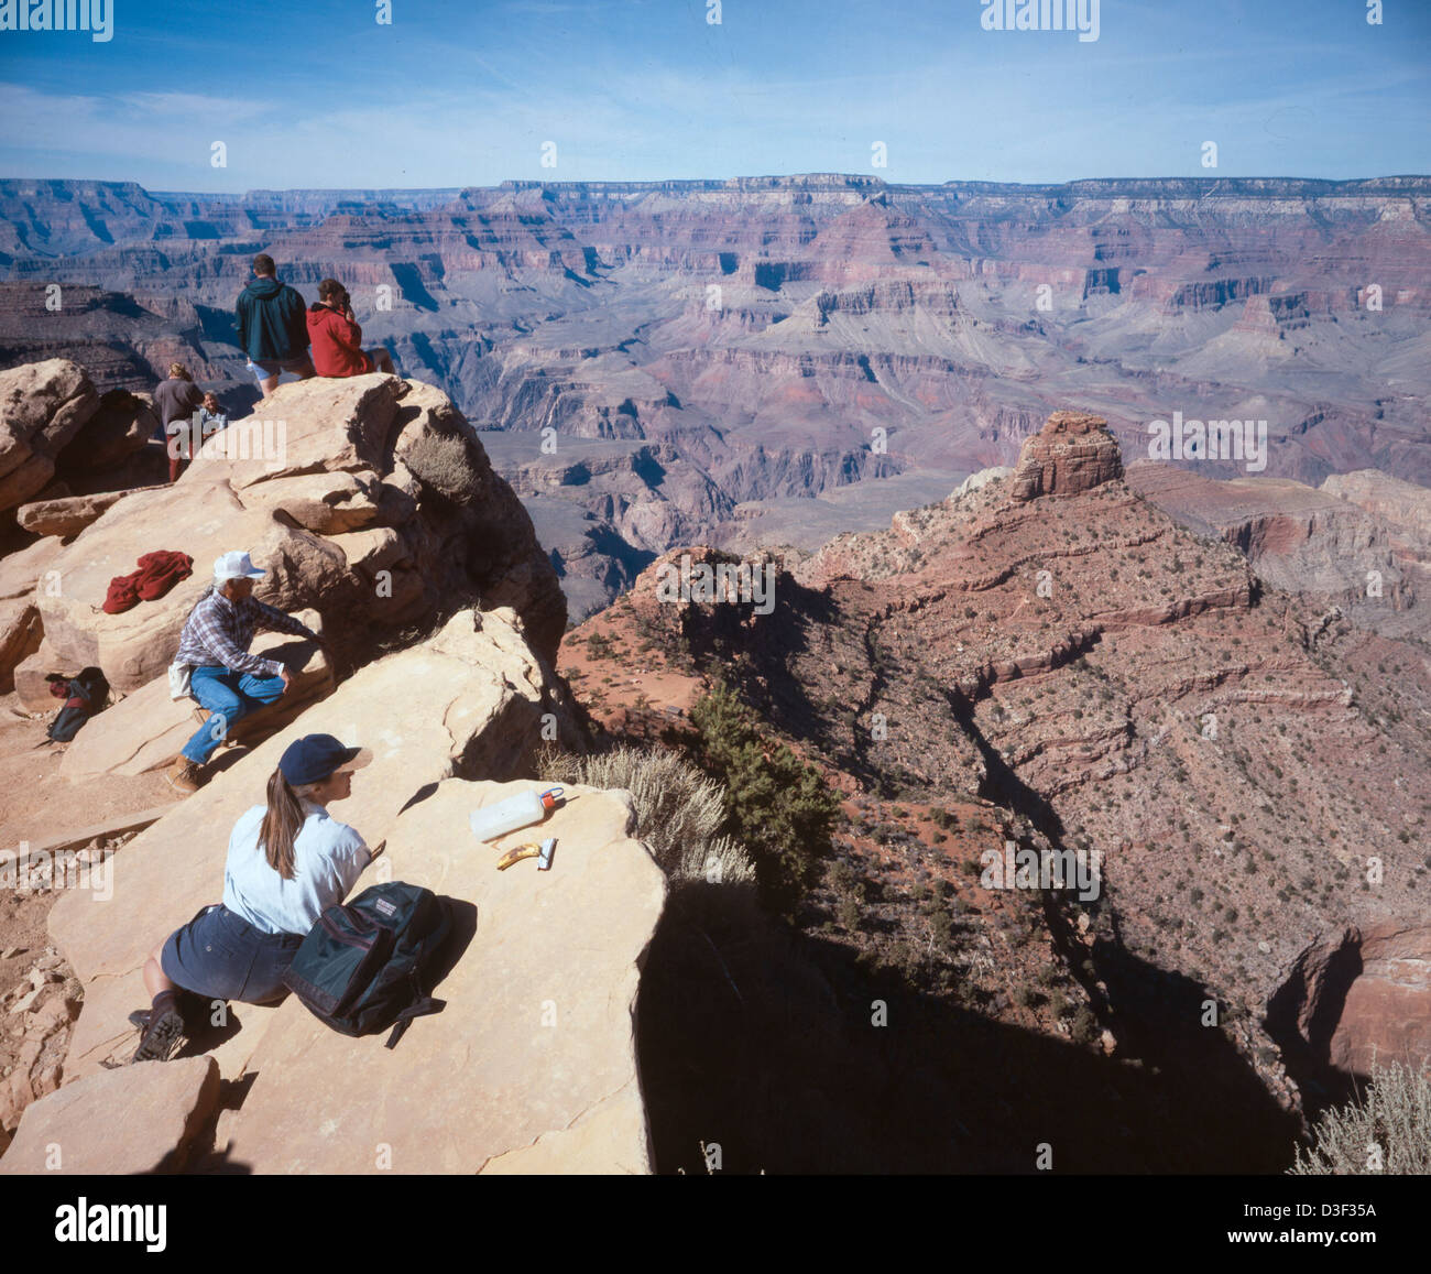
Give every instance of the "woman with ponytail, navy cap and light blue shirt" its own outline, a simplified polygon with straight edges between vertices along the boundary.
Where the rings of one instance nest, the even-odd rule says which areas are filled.
[[[283,973],[325,909],[341,903],[382,845],[369,849],[328,813],[352,793],[352,772],[372,760],[332,734],[290,743],[268,780],[268,803],[233,825],[223,902],[206,906],[145,963],[152,1005],[130,1015],[143,1035],[133,1061],[166,1062],[185,1035],[177,992],[205,1001],[272,1003]]]

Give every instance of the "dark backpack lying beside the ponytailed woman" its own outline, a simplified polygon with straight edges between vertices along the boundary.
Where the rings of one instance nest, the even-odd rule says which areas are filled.
[[[373,885],[318,918],[283,983],[343,1035],[392,1026],[394,1048],[414,1018],[444,1008],[428,993],[429,976],[451,930],[451,908],[431,889]]]

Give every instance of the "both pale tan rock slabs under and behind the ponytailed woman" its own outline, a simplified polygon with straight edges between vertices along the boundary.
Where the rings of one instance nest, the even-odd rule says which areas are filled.
[[[335,807],[369,843],[388,843],[358,889],[404,879],[455,902],[452,963],[436,986],[446,1008],[389,1052],[382,1036],[328,1031],[296,1001],[230,1005],[229,1028],[190,1045],[222,1078],[253,1076],[242,1105],[219,1118],[220,1161],[259,1172],[650,1171],[633,1013],[665,885],[631,839],[630,797],[568,790],[541,829],[558,849],[539,875],[534,863],[495,869],[499,852],[534,830],[485,845],[467,825],[474,807],[531,786],[491,780],[527,764],[551,721],[570,730],[517,614],[462,611],[428,641],[359,670],[136,836],[113,862],[103,906],[70,890],[50,913],[56,946],[84,986],[62,1094],[133,1051],[126,1015],[145,999],[147,952],[219,896],[225,829],[262,800],[283,747],[323,731],[373,750]],[[106,1088],[126,1074],[104,1075]],[[186,1088],[146,1104],[173,1129],[187,1127],[193,1098]],[[16,1145],[53,1141],[52,1118],[73,1109],[37,1102]],[[103,1134],[66,1137],[83,1162],[103,1162]]]

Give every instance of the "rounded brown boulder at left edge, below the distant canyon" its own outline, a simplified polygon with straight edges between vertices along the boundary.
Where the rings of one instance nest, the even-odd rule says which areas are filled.
[[[89,376],[67,358],[0,372],[0,510],[54,477],[54,461],[99,409]]]

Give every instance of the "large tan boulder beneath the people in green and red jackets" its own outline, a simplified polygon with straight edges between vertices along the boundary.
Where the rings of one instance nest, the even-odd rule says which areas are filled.
[[[260,600],[325,614],[353,664],[394,633],[477,600],[514,607],[532,647],[555,657],[565,628],[555,571],[439,391],[379,374],[312,379],[280,386],[259,409],[209,438],[176,484],[126,495],[49,564],[59,587],[37,604],[62,663],[97,664],[117,690],[153,680],[210,564],[233,548],[269,571]],[[422,480],[405,462],[414,452],[421,465],[432,438],[458,449],[455,475]],[[157,601],[104,614],[110,578],[156,548],[187,553],[195,574]]]

